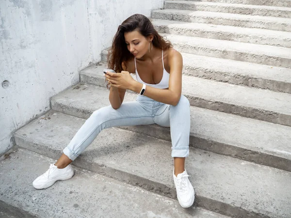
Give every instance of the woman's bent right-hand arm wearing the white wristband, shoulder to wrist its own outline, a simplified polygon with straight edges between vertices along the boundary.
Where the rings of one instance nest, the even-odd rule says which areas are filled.
[[[145,96],[152,98],[156,101],[176,106],[180,100],[182,93],[182,68],[183,58],[182,55],[172,49],[169,52],[169,64],[170,64],[170,80],[169,89],[158,89],[151,86],[146,86]],[[130,90],[140,93],[143,88],[143,84],[140,82],[133,82]]]

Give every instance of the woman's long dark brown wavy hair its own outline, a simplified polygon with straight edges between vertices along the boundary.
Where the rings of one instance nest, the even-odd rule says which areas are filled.
[[[149,18],[141,14],[129,16],[129,18],[118,26],[117,32],[113,38],[112,47],[107,55],[109,69],[113,69],[115,72],[119,73],[123,70],[122,62],[126,63],[133,58],[133,55],[127,48],[124,33],[135,30],[139,31],[145,37],[152,34],[154,36],[152,41],[154,47],[161,49],[173,47],[169,41],[165,40],[158,31],[155,30]]]

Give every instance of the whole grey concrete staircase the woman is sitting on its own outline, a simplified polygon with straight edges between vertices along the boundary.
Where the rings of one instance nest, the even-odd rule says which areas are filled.
[[[104,50],[102,62],[81,71],[80,84],[16,132],[17,146],[0,160],[3,213],[291,217],[291,0],[171,0],[152,12],[152,22],[183,56],[194,206],[176,200],[170,129],[158,125],[106,129],[73,162],[71,180],[32,187],[84,119],[110,104]],[[136,96],[128,92],[125,101]]]

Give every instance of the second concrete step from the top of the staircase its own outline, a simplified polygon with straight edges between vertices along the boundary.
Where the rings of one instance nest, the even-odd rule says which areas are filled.
[[[245,5],[188,0],[166,0],[164,3],[164,8],[291,18],[291,8],[275,6]]]

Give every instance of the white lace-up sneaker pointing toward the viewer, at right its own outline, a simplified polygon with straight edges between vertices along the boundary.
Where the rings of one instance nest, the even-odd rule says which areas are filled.
[[[178,176],[174,174],[173,178],[177,190],[177,198],[180,205],[184,208],[190,207],[194,203],[194,188],[188,178],[187,171],[179,173]]]

